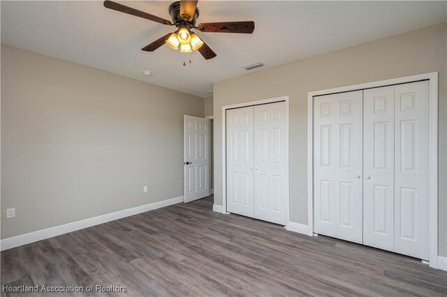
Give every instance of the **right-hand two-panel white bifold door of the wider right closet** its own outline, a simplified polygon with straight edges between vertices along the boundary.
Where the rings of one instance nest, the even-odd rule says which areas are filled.
[[[365,90],[363,243],[429,256],[429,83]]]

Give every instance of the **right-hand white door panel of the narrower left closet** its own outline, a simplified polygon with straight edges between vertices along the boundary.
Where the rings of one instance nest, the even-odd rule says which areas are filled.
[[[254,107],[254,218],[286,224],[286,102]]]

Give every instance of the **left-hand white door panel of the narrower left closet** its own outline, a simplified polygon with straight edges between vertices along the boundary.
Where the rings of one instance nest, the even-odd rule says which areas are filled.
[[[254,216],[253,111],[243,107],[226,111],[227,211]]]

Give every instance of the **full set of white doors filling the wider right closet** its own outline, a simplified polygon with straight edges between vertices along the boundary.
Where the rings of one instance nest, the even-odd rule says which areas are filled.
[[[428,259],[429,102],[428,81],[314,98],[316,233]]]

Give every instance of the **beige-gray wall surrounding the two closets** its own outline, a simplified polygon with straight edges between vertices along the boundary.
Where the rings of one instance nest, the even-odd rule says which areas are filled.
[[[439,254],[447,255],[447,23],[214,84],[214,203],[222,205],[222,106],[290,96],[290,218],[307,224],[307,93],[439,72]]]

